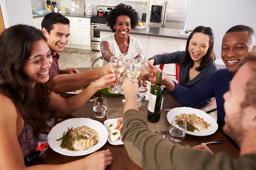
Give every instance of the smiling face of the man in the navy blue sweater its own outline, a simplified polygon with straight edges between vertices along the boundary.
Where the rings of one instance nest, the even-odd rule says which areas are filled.
[[[252,40],[248,32],[226,33],[222,39],[221,58],[228,71],[234,75],[242,65],[242,57],[252,50]]]

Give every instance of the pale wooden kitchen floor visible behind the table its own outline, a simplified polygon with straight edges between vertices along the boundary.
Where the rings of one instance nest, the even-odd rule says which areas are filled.
[[[92,62],[100,56],[100,52],[96,50],[86,50],[78,48],[64,48],[63,52],[59,53],[59,67],[65,69],[68,67],[91,67]],[[218,65],[220,68],[226,68],[225,65]],[[94,67],[99,67],[99,62],[95,63]],[[204,111],[216,108],[216,102],[212,106],[207,107]],[[217,111],[213,112],[212,117],[217,120]]]

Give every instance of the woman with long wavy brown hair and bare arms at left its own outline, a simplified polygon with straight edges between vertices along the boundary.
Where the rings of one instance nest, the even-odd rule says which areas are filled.
[[[0,164],[3,169],[24,169],[38,163],[34,162],[39,161],[34,151],[39,134],[48,127],[47,108],[70,115],[97,90],[115,81],[113,74],[106,75],[80,94],[63,99],[52,92],[54,85],[48,74],[51,64],[50,48],[40,30],[16,25],[0,36]],[[104,169],[111,160],[111,152],[105,150],[63,165],[31,168]]]

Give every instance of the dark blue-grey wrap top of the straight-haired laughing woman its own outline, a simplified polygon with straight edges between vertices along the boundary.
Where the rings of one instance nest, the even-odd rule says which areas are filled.
[[[185,55],[185,51],[176,51],[169,54],[158,54],[153,56],[152,58],[155,59],[154,65],[158,64],[169,64],[169,63],[181,63],[182,58]],[[150,58],[151,59],[151,58]],[[149,60],[150,60],[149,59]],[[219,67],[212,61],[209,65],[205,66],[203,70],[200,71],[200,73],[193,78],[192,80],[189,80],[189,70],[191,68],[192,61],[189,61],[189,63],[185,66],[180,65],[180,72],[179,72],[179,81],[180,85],[183,87],[196,87],[198,85],[201,85],[204,83],[212,73],[219,70]],[[212,99],[205,99],[203,103],[200,105],[196,105],[196,108],[203,108],[206,107]]]

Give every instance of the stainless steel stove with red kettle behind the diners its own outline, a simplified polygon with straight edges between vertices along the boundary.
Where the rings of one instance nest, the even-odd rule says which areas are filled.
[[[113,6],[97,6],[97,11],[100,9],[105,11],[105,16],[93,16],[91,17],[91,49],[100,50],[100,31],[93,31],[93,28],[106,24],[105,19],[107,12],[111,11]],[[97,12],[98,13],[98,12]]]

